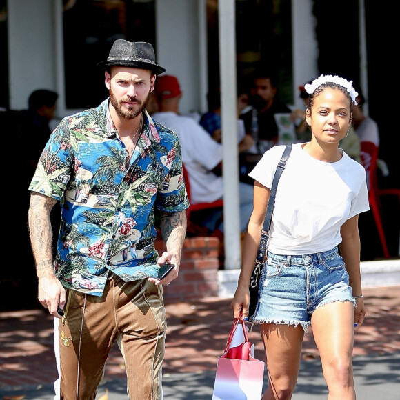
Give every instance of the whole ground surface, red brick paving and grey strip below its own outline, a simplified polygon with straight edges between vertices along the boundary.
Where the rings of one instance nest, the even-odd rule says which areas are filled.
[[[366,322],[354,337],[354,381],[359,400],[398,400],[400,392],[400,285],[363,290]],[[210,400],[217,359],[232,326],[230,298],[166,304],[163,365],[166,400]],[[259,328],[249,334],[264,361]],[[0,312],[0,400],[53,400],[57,369],[52,317],[41,308]],[[264,390],[268,382],[264,379]],[[326,399],[319,352],[306,334],[294,400]],[[128,399],[123,358],[114,346],[98,400]]]

